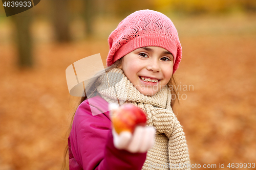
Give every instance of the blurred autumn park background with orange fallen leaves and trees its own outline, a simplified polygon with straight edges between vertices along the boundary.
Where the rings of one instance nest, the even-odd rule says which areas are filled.
[[[105,65],[109,34],[141,9],[178,30],[177,84],[194,88],[174,111],[191,163],[256,163],[256,1],[53,0],[9,17],[0,5],[0,170],[61,168],[79,100],[66,68],[97,53]]]

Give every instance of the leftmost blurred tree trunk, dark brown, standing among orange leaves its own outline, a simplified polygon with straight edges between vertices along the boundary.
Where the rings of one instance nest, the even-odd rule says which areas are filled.
[[[32,57],[32,39],[30,32],[32,13],[29,10],[26,11],[26,15],[24,15],[24,13],[12,16],[14,25],[16,26],[17,37],[15,40],[18,48],[17,66],[19,68],[32,67],[34,64]]]

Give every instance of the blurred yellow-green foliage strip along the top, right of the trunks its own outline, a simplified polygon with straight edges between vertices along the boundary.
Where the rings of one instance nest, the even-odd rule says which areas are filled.
[[[109,0],[108,3],[105,0],[96,0],[95,2],[99,6],[104,4],[104,14],[120,17],[125,17],[141,9],[183,15],[256,11],[256,1],[253,0]]]

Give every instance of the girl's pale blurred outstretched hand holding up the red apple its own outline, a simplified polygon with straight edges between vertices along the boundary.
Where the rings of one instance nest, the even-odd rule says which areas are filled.
[[[112,134],[117,149],[131,153],[145,153],[154,146],[156,129],[152,126],[137,126],[134,134],[124,131],[118,135],[113,128]]]

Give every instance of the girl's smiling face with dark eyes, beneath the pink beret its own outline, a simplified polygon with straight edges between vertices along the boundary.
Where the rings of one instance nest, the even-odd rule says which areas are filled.
[[[125,55],[119,68],[138,91],[144,95],[155,95],[172,77],[173,60],[173,55],[164,48],[146,46]],[[158,82],[145,82],[143,78]]]

